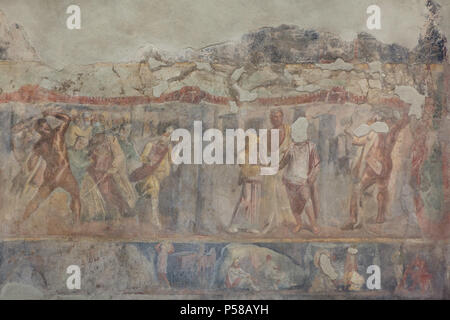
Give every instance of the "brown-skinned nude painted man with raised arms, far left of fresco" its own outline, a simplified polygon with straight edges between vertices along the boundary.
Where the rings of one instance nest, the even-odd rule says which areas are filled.
[[[38,161],[39,157],[45,160],[47,165],[44,171],[44,182],[33,199],[28,203],[20,222],[23,223],[27,220],[55,189],[62,188],[70,194],[70,209],[75,215],[75,224],[78,225],[81,211],[80,191],[77,181],[70,170],[64,139],[71,118],[59,111],[47,110],[42,115],[43,118],[38,119],[34,125],[34,129],[41,137],[33,147],[33,154],[28,161],[28,165],[33,167],[33,164]],[[46,119],[48,116],[55,117],[63,123],[52,129]]]

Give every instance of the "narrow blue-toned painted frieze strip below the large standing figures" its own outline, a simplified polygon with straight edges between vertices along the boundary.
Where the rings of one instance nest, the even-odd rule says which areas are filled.
[[[446,243],[1,243],[3,299],[448,299]]]

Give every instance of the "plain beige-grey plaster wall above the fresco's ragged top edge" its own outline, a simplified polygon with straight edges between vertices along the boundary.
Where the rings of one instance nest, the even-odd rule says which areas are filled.
[[[444,17],[450,5],[441,2],[442,29],[449,34]],[[382,11],[382,29],[373,35],[384,43],[413,48],[427,13],[422,0],[80,0],[76,4],[82,8],[83,25],[72,32],[65,28],[70,4],[68,0],[3,0],[1,9],[11,22],[25,27],[42,59],[58,68],[127,61],[146,44],[169,50],[201,48],[280,24],[335,32],[352,40],[367,31],[366,9],[372,4]]]

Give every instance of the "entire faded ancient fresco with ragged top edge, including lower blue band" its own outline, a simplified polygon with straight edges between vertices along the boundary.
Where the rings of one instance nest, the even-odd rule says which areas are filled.
[[[448,298],[450,67],[420,4],[412,49],[280,25],[58,70],[0,14],[1,296]]]

